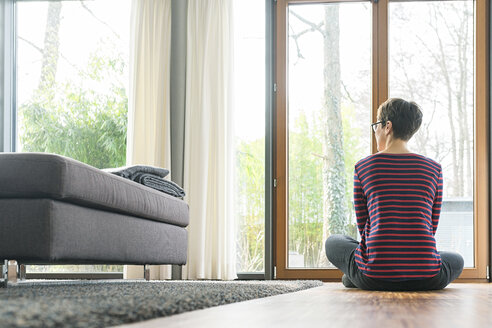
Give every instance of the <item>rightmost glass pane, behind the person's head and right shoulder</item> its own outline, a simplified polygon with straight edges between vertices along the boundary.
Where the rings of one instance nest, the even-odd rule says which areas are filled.
[[[414,100],[424,118],[409,147],[442,164],[438,250],[474,266],[474,2],[389,6],[389,94]]]

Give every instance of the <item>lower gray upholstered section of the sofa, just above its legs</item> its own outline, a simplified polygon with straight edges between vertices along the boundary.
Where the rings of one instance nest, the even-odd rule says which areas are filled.
[[[0,199],[0,258],[20,263],[185,264],[185,228],[52,199]]]

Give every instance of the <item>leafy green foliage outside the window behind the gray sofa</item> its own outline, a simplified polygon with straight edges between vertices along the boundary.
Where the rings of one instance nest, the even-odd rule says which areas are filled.
[[[124,65],[121,57],[94,54],[79,73],[89,83],[58,82],[54,89],[37,90],[19,108],[22,150],[56,153],[98,168],[124,165],[128,112],[121,82]]]

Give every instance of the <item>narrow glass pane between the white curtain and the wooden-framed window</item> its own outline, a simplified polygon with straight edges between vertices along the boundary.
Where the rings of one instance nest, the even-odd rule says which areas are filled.
[[[237,272],[264,271],[265,0],[235,0]]]

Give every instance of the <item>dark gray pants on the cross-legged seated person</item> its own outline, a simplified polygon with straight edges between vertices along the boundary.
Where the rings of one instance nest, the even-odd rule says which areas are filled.
[[[443,289],[451,281],[458,278],[463,271],[463,257],[458,253],[439,252],[441,255],[441,271],[432,278],[392,282],[370,278],[364,275],[355,263],[355,249],[359,242],[352,237],[332,235],[325,243],[326,256],[337,268],[342,270],[342,279],[346,287],[358,287],[366,290],[435,290]]]

